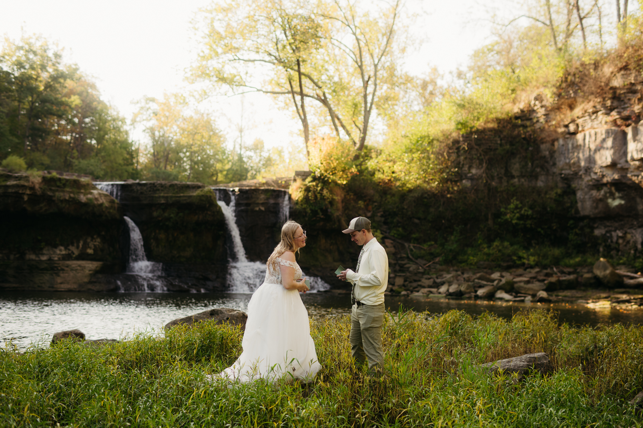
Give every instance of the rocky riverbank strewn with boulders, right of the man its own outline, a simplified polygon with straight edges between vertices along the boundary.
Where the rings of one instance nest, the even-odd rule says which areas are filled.
[[[390,257],[388,295],[643,306],[643,275],[628,266],[613,268],[604,259],[579,268],[449,268],[421,259],[407,262],[404,254],[395,257],[394,241],[384,241]]]

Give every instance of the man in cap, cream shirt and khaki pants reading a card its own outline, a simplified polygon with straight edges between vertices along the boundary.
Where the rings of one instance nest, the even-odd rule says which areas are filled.
[[[382,324],[384,322],[384,292],[388,284],[388,257],[370,229],[370,220],[356,217],[349,228],[350,240],[361,245],[356,272],[348,269],[337,275],[349,280],[350,293],[350,347],[353,358],[363,363],[368,358],[368,370],[374,372],[384,366]]]

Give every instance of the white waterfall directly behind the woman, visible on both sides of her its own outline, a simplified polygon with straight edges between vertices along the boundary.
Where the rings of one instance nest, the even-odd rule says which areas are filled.
[[[226,189],[228,196],[230,196],[230,205],[226,205],[224,201],[219,199],[219,192],[217,192],[217,203],[223,211],[223,216],[226,219],[226,226],[230,231],[232,237],[232,246],[234,252],[234,259],[230,259],[228,266],[228,291],[230,293],[254,293],[255,290],[264,282],[266,277],[266,264],[261,262],[250,262],[246,257],[246,250],[241,242],[241,234],[237,226],[237,218],[235,215],[235,198],[236,195],[230,189]],[[279,221],[280,224],[285,223],[290,216],[290,195],[284,192],[284,198],[280,203]],[[311,281],[311,292],[323,291],[329,289],[331,286],[319,277],[304,277]]]

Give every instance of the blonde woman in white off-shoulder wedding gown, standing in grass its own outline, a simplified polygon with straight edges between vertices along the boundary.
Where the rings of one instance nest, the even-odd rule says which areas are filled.
[[[243,352],[219,377],[240,382],[309,380],[320,370],[308,311],[299,296],[308,287],[294,258],[305,245],[306,232],[295,221],[287,221],[281,242],[266,263],[266,279],[248,303]]]

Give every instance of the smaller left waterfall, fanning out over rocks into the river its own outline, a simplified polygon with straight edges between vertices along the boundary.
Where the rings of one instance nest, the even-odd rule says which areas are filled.
[[[162,263],[149,262],[145,257],[143,236],[131,218],[125,216],[125,223],[129,228],[129,260],[127,261],[127,275],[136,275],[134,289],[119,289],[119,291],[167,291],[163,284]],[[121,287],[123,288],[123,287]]]

